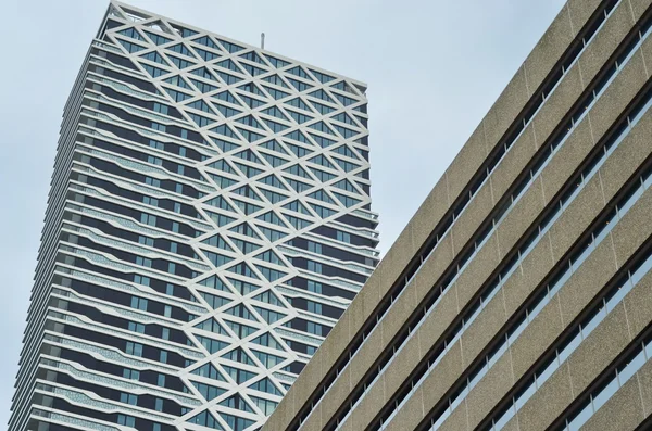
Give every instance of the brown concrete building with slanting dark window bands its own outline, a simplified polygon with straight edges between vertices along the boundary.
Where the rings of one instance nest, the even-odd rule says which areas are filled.
[[[570,0],[264,431],[652,429],[652,5]]]

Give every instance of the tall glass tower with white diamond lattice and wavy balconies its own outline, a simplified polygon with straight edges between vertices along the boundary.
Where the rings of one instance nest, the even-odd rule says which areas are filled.
[[[363,83],[112,2],[9,430],[255,430],[372,274]]]

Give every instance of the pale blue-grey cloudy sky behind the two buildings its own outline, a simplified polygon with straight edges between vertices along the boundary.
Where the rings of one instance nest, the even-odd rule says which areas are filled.
[[[372,208],[393,243],[563,0],[130,0],[368,84]],[[0,428],[9,419],[64,103],[108,0],[4,0]]]

